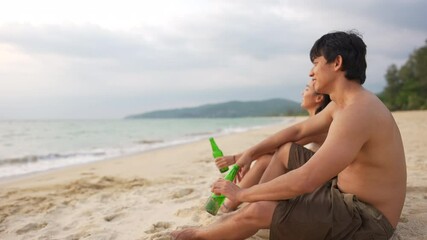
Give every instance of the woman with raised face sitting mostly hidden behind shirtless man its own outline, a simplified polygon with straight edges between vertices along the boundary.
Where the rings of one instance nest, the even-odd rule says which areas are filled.
[[[306,85],[304,91],[302,92],[302,101],[301,107],[307,110],[309,116],[314,116],[315,114],[322,111],[331,101],[329,95],[327,94],[319,94],[314,91],[313,81]],[[326,139],[326,134],[322,134],[316,136],[316,138],[311,139],[303,139],[298,144],[305,145],[306,148],[317,151],[319,147],[323,144]],[[262,178],[262,175],[270,163],[271,158],[273,157],[273,153],[266,154],[257,161],[255,161],[254,165],[248,171],[244,178],[240,179],[239,187],[248,188],[255,184],[258,184]],[[215,160],[215,164],[218,168],[223,168],[225,166],[233,165],[236,163],[236,159],[239,158],[241,154],[232,155],[232,156],[224,156],[221,158],[217,158]],[[221,207],[222,212],[231,212],[237,209],[240,205],[240,202],[232,202],[229,199],[226,199],[223,206]]]

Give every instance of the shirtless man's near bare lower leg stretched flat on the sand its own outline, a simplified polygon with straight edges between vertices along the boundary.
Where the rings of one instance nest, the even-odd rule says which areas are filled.
[[[259,229],[269,228],[277,202],[263,201],[250,203],[235,213],[211,226],[204,228],[188,228],[172,233],[177,240],[227,240],[246,239]]]

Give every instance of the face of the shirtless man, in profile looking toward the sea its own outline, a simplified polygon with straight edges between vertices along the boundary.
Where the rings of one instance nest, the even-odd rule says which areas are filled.
[[[317,93],[327,94],[327,86],[331,82],[333,74],[333,62],[327,63],[323,56],[313,60],[313,68],[310,70],[309,76],[313,80],[313,87]]]

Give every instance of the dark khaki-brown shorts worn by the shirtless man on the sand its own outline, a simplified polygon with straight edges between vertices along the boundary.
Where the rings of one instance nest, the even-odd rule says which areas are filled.
[[[292,144],[288,168],[296,169],[314,152]],[[336,178],[314,192],[280,201],[270,226],[270,239],[390,239],[394,229],[383,214],[353,194],[341,192]]]

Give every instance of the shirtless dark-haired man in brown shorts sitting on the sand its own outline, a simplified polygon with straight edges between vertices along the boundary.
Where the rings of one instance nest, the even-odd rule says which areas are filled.
[[[389,110],[362,87],[366,45],[353,32],[334,32],[313,45],[310,77],[332,101],[321,113],[246,150],[253,159],[278,149],[264,182],[240,189],[218,180],[212,191],[247,206],[204,228],[172,233],[175,239],[245,239],[270,228],[270,239],[389,239],[406,193],[399,129]],[[316,153],[296,144],[327,133]]]

